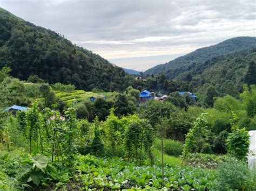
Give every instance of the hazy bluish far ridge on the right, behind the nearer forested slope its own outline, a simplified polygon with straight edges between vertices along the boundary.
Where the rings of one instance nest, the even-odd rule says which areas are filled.
[[[217,45],[199,48],[194,52],[180,56],[179,58],[157,65],[145,71],[145,74],[164,74],[167,79],[179,78],[189,72],[203,73],[201,65],[207,65],[208,60],[239,51],[248,51],[256,47],[255,37],[237,37],[223,41]],[[205,63],[206,62],[206,63]],[[205,67],[206,68],[206,67]]]

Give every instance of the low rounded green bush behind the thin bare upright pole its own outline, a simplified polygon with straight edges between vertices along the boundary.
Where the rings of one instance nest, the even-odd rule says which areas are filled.
[[[161,140],[156,139],[153,144],[157,150],[161,151]],[[177,140],[164,139],[164,153],[172,156],[181,155],[183,151],[183,144]]]

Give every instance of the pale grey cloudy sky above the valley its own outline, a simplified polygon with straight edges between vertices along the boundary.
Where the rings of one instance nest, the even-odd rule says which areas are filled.
[[[0,6],[137,70],[228,38],[256,36],[255,0],[0,0]]]

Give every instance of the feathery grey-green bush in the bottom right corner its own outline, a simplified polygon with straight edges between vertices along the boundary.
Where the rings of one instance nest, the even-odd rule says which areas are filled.
[[[246,162],[230,158],[219,166],[214,190],[255,190],[256,172]]]

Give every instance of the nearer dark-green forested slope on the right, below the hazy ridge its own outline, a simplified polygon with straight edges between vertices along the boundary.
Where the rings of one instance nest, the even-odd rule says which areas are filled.
[[[256,84],[256,49],[215,56],[177,79],[187,81],[201,95],[212,84],[218,96],[237,96],[244,83]]]

